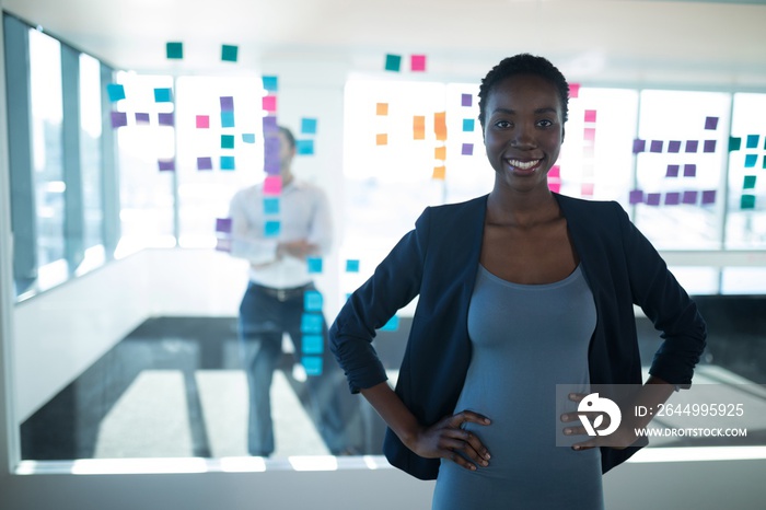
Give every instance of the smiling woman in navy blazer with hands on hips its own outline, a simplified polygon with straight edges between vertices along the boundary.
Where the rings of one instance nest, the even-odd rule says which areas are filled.
[[[330,329],[351,391],[388,425],[388,461],[437,478],[434,509],[601,508],[601,474],[640,443],[622,427],[617,448],[601,445],[567,425],[574,413],[554,424],[556,385],[641,384],[634,303],[664,338],[636,398],[688,387],[705,347],[696,305],[619,205],[549,190],[568,90],[526,54],[485,77],[492,190],[427,208]],[[371,340],[416,295],[394,392]],[[579,439],[560,448],[553,434]]]

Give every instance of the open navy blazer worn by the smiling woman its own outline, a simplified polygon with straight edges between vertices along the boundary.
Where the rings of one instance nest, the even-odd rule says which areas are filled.
[[[617,202],[554,196],[595,301],[597,322],[588,358],[591,383],[642,383],[636,303],[664,339],[650,373],[688,387],[706,338],[696,304]],[[352,392],[387,379],[372,346],[375,329],[419,295],[395,391],[420,424],[454,413],[471,361],[468,303],[486,209],[486,195],[427,208],[415,230],[351,294],[330,327],[329,340]],[[602,472],[639,448],[602,448]],[[391,464],[413,476],[438,475],[438,459],[415,454],[391,429],[383,451]]]

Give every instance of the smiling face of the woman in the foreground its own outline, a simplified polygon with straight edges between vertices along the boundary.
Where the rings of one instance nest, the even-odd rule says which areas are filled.
[[[547,174],[564,141],[556,86],[535,74],[519,74],[496,85],[486,107],[484,144],[496,172],[496,187],[547,189]]]

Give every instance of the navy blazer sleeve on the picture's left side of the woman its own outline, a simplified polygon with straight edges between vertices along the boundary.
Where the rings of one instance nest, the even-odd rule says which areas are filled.
[[[329,328],[329,348],[352,393],[387,380],[372,340],[375,331],[420,292],[429,211],[423,211],[415,230],[402,237],[374,274],[350,295]]]

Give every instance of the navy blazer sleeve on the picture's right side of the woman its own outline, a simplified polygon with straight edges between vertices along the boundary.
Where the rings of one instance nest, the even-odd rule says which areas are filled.
[[[616,207],[634,303],[662,332],[663,341],[649,373],[680,387],[689,387],[694,368],[705,350],[705,321],[657,250],[630,222],[625,210],[619,205]]]

